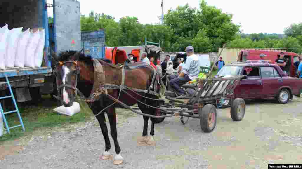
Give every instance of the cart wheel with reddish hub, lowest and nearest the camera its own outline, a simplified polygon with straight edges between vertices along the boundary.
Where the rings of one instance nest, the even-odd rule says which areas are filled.
[[[207,104],[199,109],[199,115],[201,130],[206,133],[213,131],[217,123],[216,107],[212,104]]]

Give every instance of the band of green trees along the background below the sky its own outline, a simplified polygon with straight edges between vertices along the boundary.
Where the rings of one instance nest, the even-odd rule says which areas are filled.
[[[302,23],[285,28],[285,35],[243,34],[232,17],[201,0],[199,8],[186,4],[168,10],[163,25],[141,24],[137,17],[129,16],[116,22],[113,16],[91,11],[89,16],[81,16],[81,30],[104,28],[107,46],[144,45],[146,37],[147,41],[160,42],[162,50],[168,52],[184,51],[188,45],[199,53],[217,52],[223,44],[231,48],[297,48],[288,51],[301,52]]]

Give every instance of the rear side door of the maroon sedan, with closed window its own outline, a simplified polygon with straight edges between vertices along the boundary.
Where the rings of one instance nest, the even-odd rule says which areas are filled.
[[[278,89],[283,85],[283,79],[273,66],[260,67],[263,92],[262,97],[271,97],[278,94]]]

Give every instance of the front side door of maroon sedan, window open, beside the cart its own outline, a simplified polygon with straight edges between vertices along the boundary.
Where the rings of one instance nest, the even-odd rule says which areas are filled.
[[[251,68],[247,79],[242,79],[234,90],[234,96],[236,98],[255,98],[259,97],[262,93],[262,81],[260,78],[258,66],[247,66],[245,68]],[[245,70],[243,69],[243,72]]]

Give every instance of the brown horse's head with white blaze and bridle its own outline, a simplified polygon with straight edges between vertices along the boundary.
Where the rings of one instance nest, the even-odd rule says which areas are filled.
[[[66,106],[72,106],[76,97],[76,85],[79,74],[78,59],[81,51],[64,51],[56,55],[52,53],[55,60],[55,68],[53,70],[56,76],[56,84],[58,90],[58,99]]]

